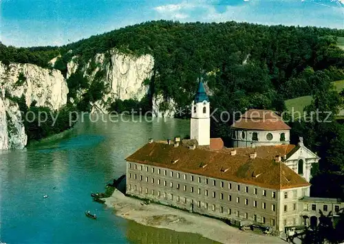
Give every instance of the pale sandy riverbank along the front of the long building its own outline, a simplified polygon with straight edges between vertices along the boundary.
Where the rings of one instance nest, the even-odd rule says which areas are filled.
[[[286,243],[276,236],[243,232],[222,221],[203,217],[199,214],[191,214],[155,203],[142,205],[143,201],[125,197],[118,190],[115,190],[111,197],[104,200],[108,207],[116,210],[117,216],[155,228],[201,234],[220,243]]]

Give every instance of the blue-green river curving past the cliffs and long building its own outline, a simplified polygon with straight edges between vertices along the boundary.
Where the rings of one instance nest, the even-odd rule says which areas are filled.
[[[90,192],[103,192],[123,175],[125,157],[149,137],[189,134],[189,120],[127,120],[92,122],[86,116],[63,137],[0,152],[0,242],[213,243],[116,217],[92,201]],[[85,217],[85,210],[98,219]]]

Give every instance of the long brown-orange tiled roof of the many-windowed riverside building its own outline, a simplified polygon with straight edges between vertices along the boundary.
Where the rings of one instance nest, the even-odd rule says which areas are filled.
[[[248,155],[245,155],[245,153],[249,153],[247,149],[244,154],[241,154],[241,148],[235,148],[237,155],[232,156],[228,155],[229,150],[224,151],[224,149],[220,151],[200,148],[191,150],[182,145],[174,147],[173,145],[153,142],[142,146],[126,160],[272,189],[310,186],[305,179],[297,175],[283,162],[279,163],[271,159],[272,155],[275,157],[277,151],[292,150],[290,149],[292,146],[283,145],[281,148],[274,148],[271,154],[268,153],[268,158],[259,157],[258,151],[257,157],[250,159]],[[204,165],[206,167],[201,167]]]

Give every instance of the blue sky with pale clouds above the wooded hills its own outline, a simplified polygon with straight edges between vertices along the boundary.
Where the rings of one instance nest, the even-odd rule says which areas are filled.
[[[0,0],[0,41],[63,45],[158,19],[344,29],[344,0]]]

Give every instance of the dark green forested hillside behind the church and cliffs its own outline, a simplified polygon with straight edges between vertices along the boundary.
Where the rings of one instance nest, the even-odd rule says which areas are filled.
[[[221,111],[231,113],[250,108],[284,111],[284,100],[309,95],[313,102],[307,111],[335,112],[343,101],[332,91],[331,82],[344,80],[344,50],[336,45],[338,37],[344,37],[344,30],[233,21],[151,21],[62,47],[0,45],[0,60],[49,67],[48,61],[60,54],[54,68],[66,74],[67,63],[73,56],[78,56],[78,63],[85,65],[95,54],[116,47],[122,53],[153,55],[153,77],[147,80],[149,94],[162,94],[166,100],[173,98],[178,107],[191,103],[197,78],[202,76],[211,91],[211,107],[218,109],[215,116]],[[82,79],[80,77],[80,82],[85,83]],[[69,85],[75,87],[77,82],[74,77]],[[231,122],[233,118],[227,123],[213,122],[212,135],[226,140]],[[342,181],[336,184],[338,189],[318,190],[316,194],[334,197],[340,192],[344,195],[343,175],[338,175],[344,171],[343,125],[335,120],[331,123],[294,122],[291,125],[293,142],[303,136],[306,146],[323,157],[314,174],[336,172],[335,177]],[[314,179],[318,179],[316,177]],[[328,179],[331,177],[334,179],[333,175]]]

